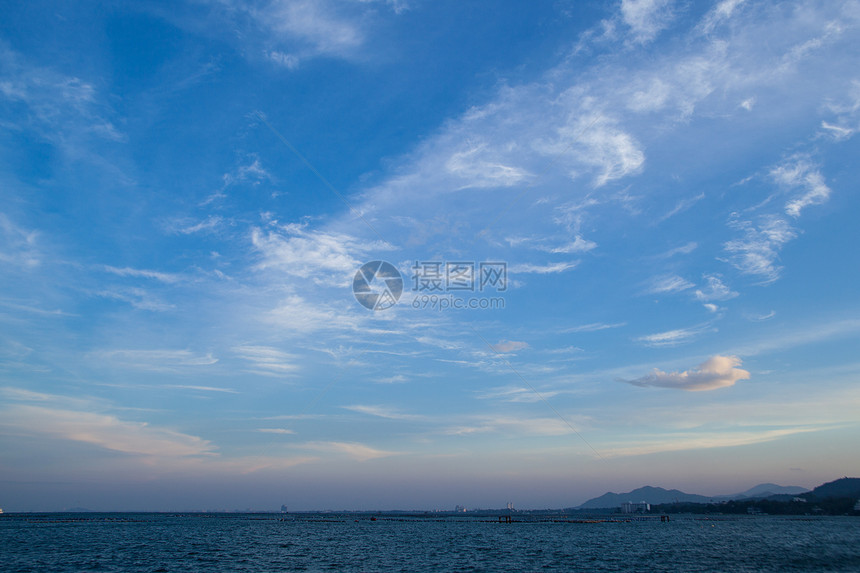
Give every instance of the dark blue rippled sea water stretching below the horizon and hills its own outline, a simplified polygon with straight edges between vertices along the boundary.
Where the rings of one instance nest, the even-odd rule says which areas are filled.
[[[860,518],[6,514],[0,571],[860,571]]]

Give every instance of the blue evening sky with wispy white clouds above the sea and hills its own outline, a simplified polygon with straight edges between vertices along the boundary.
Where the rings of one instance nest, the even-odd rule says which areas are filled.
[[[860,474],[860,2],[2,4],[5,511]]]

